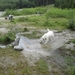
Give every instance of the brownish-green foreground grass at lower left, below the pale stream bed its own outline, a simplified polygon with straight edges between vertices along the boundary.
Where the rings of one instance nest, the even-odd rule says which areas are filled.
[[[0,75],[49,75],[48,65],[40,59],[36,66],[29,66],[20,51],[12,47],[0,49]]]

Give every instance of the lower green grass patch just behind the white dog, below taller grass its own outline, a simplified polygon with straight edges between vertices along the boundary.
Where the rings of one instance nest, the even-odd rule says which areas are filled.
[[[25,22],[35,27],[57,30],[63,30],[67,28],[68,25],[68,20],[65,18],[48,18],[47,20],[44,15],[28,17],[28,21]]]

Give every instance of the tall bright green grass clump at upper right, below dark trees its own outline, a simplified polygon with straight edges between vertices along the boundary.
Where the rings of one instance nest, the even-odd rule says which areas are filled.
[[[46,15],[52,18],[73,18],[75,16],[75,9],[60,9],[51,8],[47,11]]]

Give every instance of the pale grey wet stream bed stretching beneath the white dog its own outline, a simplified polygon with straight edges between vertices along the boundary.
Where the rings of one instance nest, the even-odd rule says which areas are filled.
[[[23,47],[22,54],[27,58],[30,65],[33,65],[41,57],[50,57],[66,42],[75,39],[75,32],[65,30],[61,33],[55,32],[55,37],[48,44],[40,44],[39,39],[29,39],[25,36],[20,37],[20,45]]]

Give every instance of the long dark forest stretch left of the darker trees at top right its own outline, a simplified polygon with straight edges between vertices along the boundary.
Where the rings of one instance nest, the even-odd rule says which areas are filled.
[[[0,10],[45,6],[54,0],[0,0]]]

